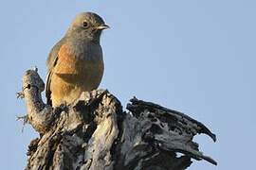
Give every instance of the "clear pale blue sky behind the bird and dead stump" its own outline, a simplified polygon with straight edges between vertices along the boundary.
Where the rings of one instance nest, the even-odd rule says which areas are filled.
[[[81,11],[99,13],[112,28],[101,45],[101,88],[125,103],[137,98],[183,111],[217,135],[196,137],[218,166],[194,161],[192,170],[254,169],[256,1],[24,0],[0,7],[0,168],[23,169],[37,134],[15,121],[26,113],[15,99],[24,72],[46,57]]]

